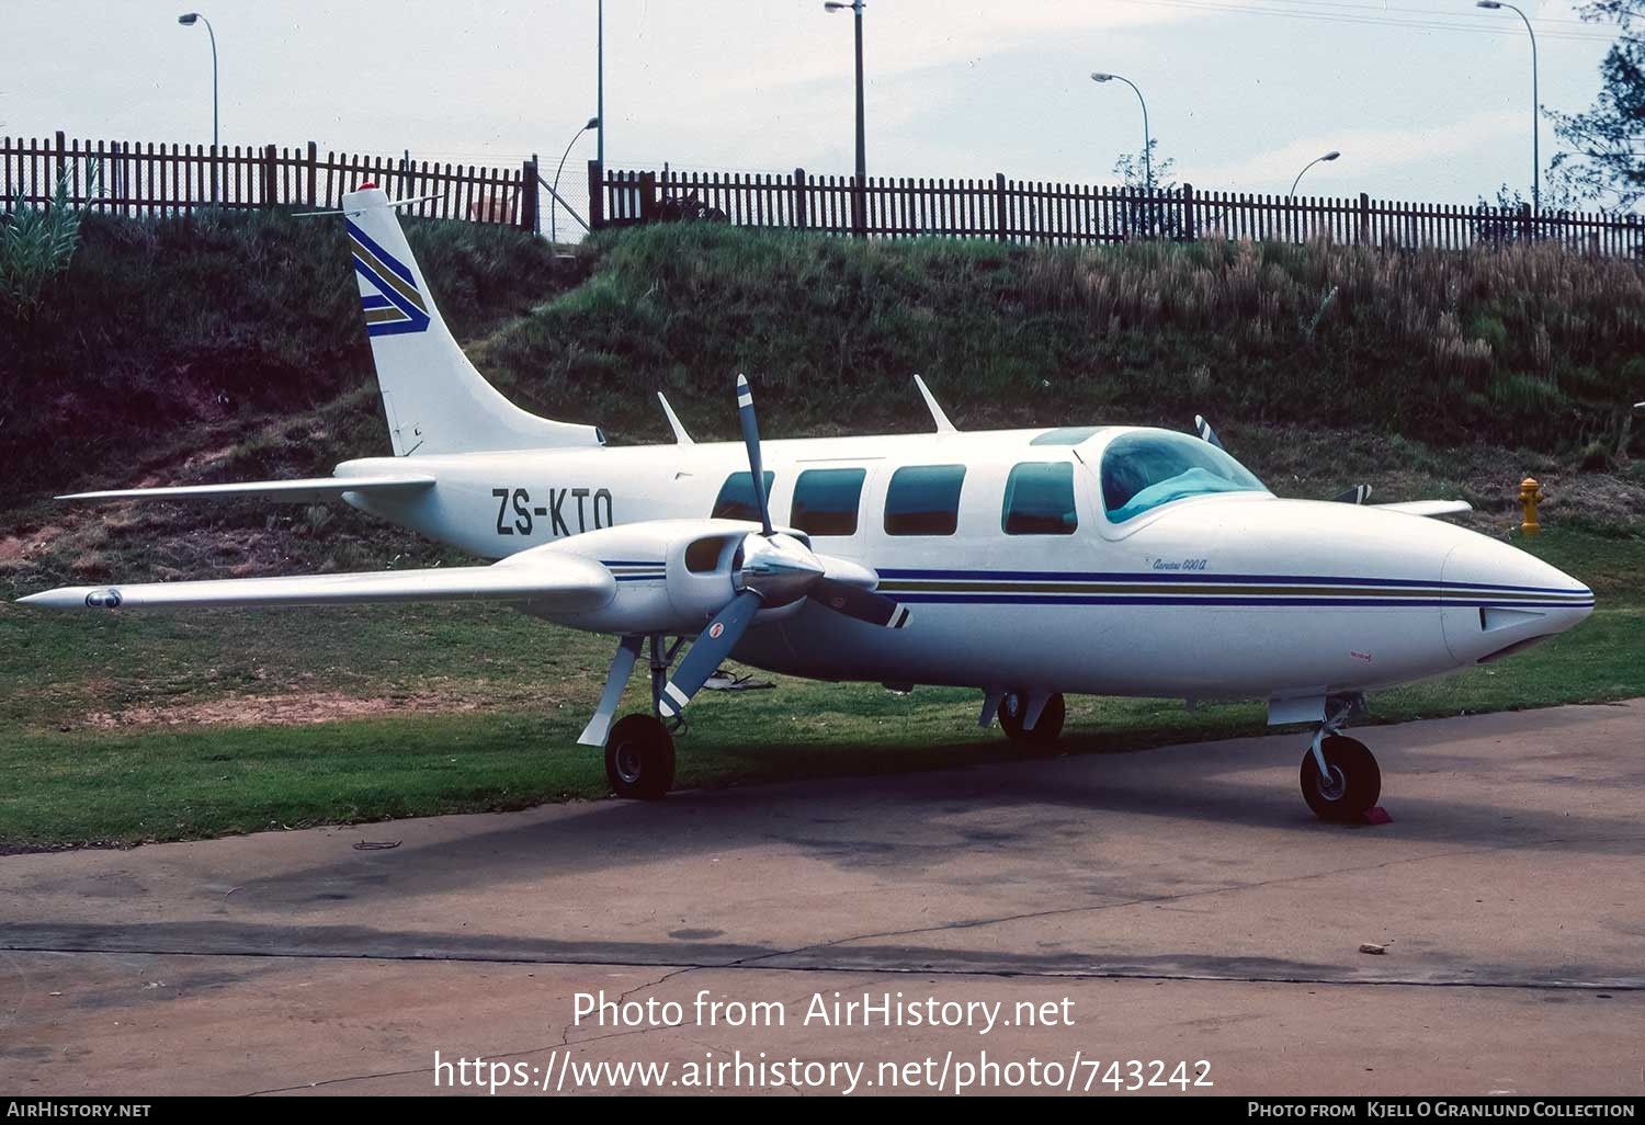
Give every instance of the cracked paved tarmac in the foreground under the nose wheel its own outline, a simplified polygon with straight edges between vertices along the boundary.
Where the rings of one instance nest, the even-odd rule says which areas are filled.
[[[0,857],[0,1094],[1645,1094],[1645,701],[1357,734]]]

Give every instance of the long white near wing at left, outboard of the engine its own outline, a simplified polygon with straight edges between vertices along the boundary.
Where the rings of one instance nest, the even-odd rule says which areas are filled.
[[[595,610],[617,594],[617,579],[574,554],[505,559],[492,566],[370,574],[64,586],[18,599],[44,609],[209,609],[224,605],[349,605],[360,602],[535,602],[558,612]]]

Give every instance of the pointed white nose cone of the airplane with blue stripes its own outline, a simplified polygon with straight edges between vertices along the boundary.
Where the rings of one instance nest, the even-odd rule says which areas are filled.
[[[1510,656],[1594,612],[1594,592],[1574,577],[1482,535],[1451,548],[1439,574],[1446,646],[1459,664]]]

